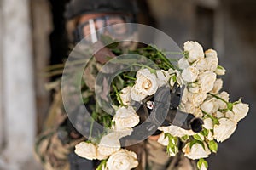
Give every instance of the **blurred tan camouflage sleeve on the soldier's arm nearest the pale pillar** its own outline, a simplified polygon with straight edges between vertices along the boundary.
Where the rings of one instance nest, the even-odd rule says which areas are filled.
[[[69,141],[67,144],[60,139],[61,123],[67,118],[63,110],[61,90],[55,94],[55,99],[45,122],[44,132],[39,134],[35,143],[35,156],[44,165],[45,170],[69,170],[67,156],[74,150],[75,144],[84,138]]]

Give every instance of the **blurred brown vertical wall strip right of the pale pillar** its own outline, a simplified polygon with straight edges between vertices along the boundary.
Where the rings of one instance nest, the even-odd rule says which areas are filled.
[[[33,69],[36,74],[35,93],[37,105],[37,132],[43,128],[44,119],[47,116],[50,103],[49,91],[45,83],[49,77],[44,77],[44,71],[49,65],[50,44],[49,35],[52,28],[52,17],[48,0],[37,0],[31,2],[32,7],[32,42],[33,42]]]

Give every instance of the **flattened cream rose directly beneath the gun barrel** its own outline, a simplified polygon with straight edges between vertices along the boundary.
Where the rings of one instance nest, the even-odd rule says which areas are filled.
[[[158,127],[158,129],[160,131],[163,131],[164,133],[170,133],[172,136],[175,137],[183,137],[185,135],[192,136],[196,134],[192,130],[184,130],[183,128],[174,125],[171,125],[169,127]]]

